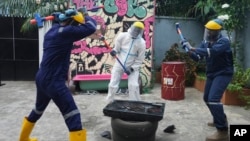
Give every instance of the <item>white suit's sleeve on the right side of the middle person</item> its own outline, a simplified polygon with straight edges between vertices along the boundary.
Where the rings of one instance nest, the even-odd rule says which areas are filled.
[[[146,52],[145,40],[141,39],[140,44],[138,46],[139,46],[138,51],[137,51],[138,55],[135,58],[135,61],[131,66],[134,70],[139,70],[142,65],[143,60],[145,59],[145,52]]]

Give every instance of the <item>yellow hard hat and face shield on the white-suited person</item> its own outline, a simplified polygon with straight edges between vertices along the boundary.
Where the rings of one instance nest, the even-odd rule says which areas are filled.
[[[141,22],[135,22],[128,30],[130,36],[133,39],[136,39],[138,37],[142,37],[144,30],[144,25]]]

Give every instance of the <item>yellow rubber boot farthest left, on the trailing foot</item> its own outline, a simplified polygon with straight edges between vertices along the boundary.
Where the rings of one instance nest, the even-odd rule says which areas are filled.
[[[36,138],[30,138],[30,133],[34,127],[35,123],[27,120],[27,117],[23,119],[23,125],[20,133],[19,141],[37,141]]]

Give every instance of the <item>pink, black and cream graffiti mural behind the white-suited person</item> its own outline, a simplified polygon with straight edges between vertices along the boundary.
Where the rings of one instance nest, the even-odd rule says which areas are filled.
[[[109,54],[110,50],[99,40],[99,35],[103,35],[110,46],[114,47],[114,40],[119,32],[127,31],[134,21],[141,21],[145,25],[143,37],[147,50],[140,76],[143,87],[149,86],[152,67],[154,0],[73,0],[73,3],[76,8],[104,7],[88,11],[88,14],[97,21],[98,29],[88,38],[74,43],[70,69],[81,74],[110,73],[115,58]]]

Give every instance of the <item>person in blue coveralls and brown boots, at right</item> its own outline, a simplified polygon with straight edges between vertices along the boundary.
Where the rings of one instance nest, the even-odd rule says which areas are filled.
[[[213,122],[209,122],[208,126],[217,129],[213,135],[206,137],[206,141],[229,140],[227,117],[220,101],[233,77],[234,65],[230,41],[222,36],[222,29],[223,21],[210,20],[205,25],[205,39],[198,48],[193,48],[189,42],[183,43],[193,60],[206,59],[204,101],[213,117]]]

